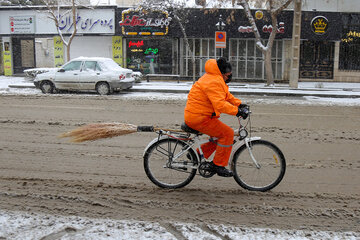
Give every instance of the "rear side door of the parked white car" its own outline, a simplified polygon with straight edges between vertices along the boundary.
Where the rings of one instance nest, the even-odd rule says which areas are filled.
[[[93,90],[101,75],[101,68],[97,61],[84,61],[79,75],[79,82],[83,90]]]

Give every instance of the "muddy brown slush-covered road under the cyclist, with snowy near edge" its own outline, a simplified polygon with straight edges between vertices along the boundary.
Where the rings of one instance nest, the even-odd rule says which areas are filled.
[[[360,238],[357,102],[247,96],[254,134],[285,153],[283,182],[253,193],[197,176],[169,191],[142,167],[152,134],[82,144],[57,136],[90,122],[179,126],[183,94],[34,90],[0,95],[0,239]]]

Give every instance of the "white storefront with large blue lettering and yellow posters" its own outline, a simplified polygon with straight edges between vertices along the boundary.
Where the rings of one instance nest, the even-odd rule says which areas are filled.
[[[66,41],[74,30],[72,17],[60,10],[59,29]],[[64,13],[64,15],[61,15]],[[71,58],[112,57],[115,7],[78,9],[77,35],[70,45]],[[0,8],[0,38],[5,75],[35,67],[59,67],[66,59],[66,46],[58,36],[45,8]]]

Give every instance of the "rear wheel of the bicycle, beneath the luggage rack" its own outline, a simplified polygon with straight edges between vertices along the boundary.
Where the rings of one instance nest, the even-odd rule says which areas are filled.
[[[197,171],[197,158],[192,149],[183,152],[186,148],[185,142],[170,138],[152,144],[144,155],[148,178],[162,188],[181,188],[189,184]]]

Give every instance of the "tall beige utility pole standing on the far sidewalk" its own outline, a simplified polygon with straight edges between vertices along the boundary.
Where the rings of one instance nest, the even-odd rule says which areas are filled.
[[[291,88],[298,88],[300,66],[301,0],[294,0],[294,19],[291,48],[290,81]]]

